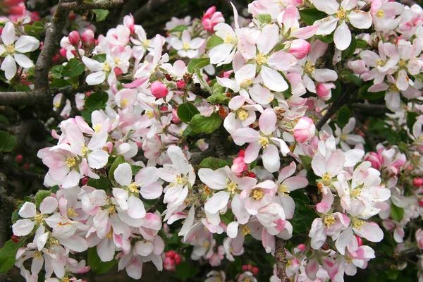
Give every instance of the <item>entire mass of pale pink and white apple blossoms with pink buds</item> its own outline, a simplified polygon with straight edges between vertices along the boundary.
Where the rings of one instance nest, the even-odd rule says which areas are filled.
[[[85,71],[91,91],[54,98],[65,120],[52,130],[56,145],[37,154],[50,190],[24,202],[12,226],[27,281],[43,267],[49,282],[77,281],[90,266],[73,255],[87,250],[135,279],[145,262],[174,271],[183,258],[164,252],[169,226],[180,226],[190,259],[213,267],[243,255],[246,238],[275,255],[278,240],[302,233],[283,250],[295,281],[355,275],[389,233],[398,252],[423,249],[422,228],[404,240],[423,206],[422,8],[257,0],[248,12],[251,20],[233,7],[229,25],[212,7],[202,19],[172,18],[166,37],[152,38],[125,16],[106,35],[61,39],[51,78],[71,83]],[[39,48],[17,25],[1,33],[11,84],[30,74],[27,54]],[[389,126],[410,142],[372,152],[356,116],[319,125],[351,85],[357,99],[384,98]],[[236,280],[255,276],[245,267]]]

